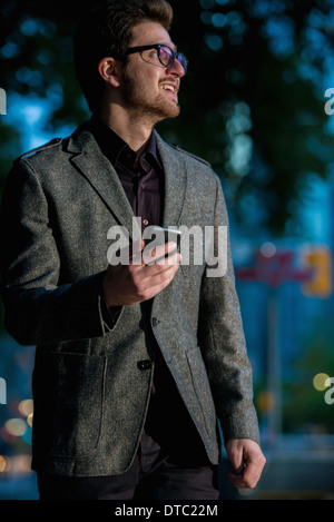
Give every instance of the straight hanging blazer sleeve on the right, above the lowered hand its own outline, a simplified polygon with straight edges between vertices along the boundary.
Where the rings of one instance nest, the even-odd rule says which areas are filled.
[[[203,278],[198,341],[225,442],[245,437],[259,443],[252,368],[235,289],[228,234],[226,242],[218,242],[218,227],[228,230],[228,216],[218,178],[216,184],[214,243],[226,269],[214,277],[206,270]]]

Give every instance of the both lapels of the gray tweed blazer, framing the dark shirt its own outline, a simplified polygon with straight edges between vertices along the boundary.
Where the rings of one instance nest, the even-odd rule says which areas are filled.
[[[186,166],[181,155],[167,145],[156,131],[154,132],[165,177],[163,226],[178,226],[186,195]],[[96,190],[116,221],[125,226],[132,237],[132,208],[115,168],[102,155],[90,131],[90,121],[80,125],[72,134],[67,150],[72,152],[70,162]],[[136,238],[137,233],[140,234],[139,226],[136,229]]]

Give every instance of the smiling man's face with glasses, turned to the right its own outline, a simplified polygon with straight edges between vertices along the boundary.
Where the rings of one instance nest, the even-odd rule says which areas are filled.
[[[143,22],[132,30],[131,47],[164,43],[175,50],[169,33],[159,23]],[[124,69],[122,93],[127,109],[134,118],[156,124],[179,115],[178,90],[185,71],[175,60],[170,68],[163,67],[155,49],[129,55]]]

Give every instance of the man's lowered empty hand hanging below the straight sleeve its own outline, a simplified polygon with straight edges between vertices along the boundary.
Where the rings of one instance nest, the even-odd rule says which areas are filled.
[[[255,487],[266,463],[259,445],[250,439],[230,439],[226,452],[234,469],[228,474],[233,484],[236,487]]]

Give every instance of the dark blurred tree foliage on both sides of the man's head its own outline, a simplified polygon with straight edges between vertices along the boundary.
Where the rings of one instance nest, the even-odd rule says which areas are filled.
[[[89,115],[72,69],[71,35],[96,3],[1,2],[0,87],[27,100],[46,100],[49,134]],[[324,91],[331,87],[325,81],[334,2],[170,3],[171,36],[190,63],[181,116],[158,130],[213,165],[230,209],[254,235],[264,227],[283,234],[308,174],[325,177],[333,162]],[[3,176],[13,151],[20,151],[21,129],[6,127],[6,117],[0,118]]]

